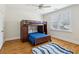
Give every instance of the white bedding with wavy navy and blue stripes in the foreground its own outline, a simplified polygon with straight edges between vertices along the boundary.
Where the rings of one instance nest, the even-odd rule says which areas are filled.
[[[33,54],[72,54],[73,52],[55,43],[48,43],[32,49]]]

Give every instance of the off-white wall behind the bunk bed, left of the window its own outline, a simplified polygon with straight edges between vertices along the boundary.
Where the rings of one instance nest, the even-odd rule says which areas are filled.
[[[42,20],[37,7],[23,4],[6,5],[5,17],[5,39],[20,37],[20,21],[25,20]]]

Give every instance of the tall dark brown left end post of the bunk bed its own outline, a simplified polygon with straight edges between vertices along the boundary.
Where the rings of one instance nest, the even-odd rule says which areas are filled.
[[[20,40],[26,42],[28,40],[28,24],[26,20],[20,22]]]

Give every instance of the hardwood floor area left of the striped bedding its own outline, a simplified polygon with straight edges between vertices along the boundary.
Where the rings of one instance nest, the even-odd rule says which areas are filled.
[[[11,40],[4,43],[1,50],[2,54],[30,54],[32,45],[29,42],[21,42],[18,40]]]

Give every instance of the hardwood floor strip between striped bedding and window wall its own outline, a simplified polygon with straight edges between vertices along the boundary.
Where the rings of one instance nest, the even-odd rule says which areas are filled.
[[[66,49],[73,51],[74,54],[79,54],[79,45],[78,44],[70,43],[68,41],[63,41],[58,38],[52,38],[52,42],[66,48]]]

